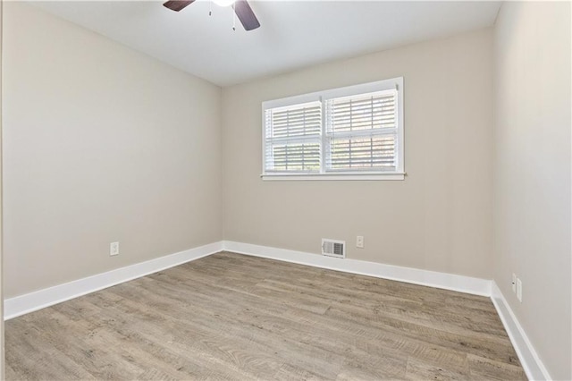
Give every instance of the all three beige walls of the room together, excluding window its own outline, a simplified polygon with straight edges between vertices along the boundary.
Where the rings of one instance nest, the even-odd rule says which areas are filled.
[[[570,379],[569,16],[570,4],[508,3],[494,38],[481,30],[326,63],[221,98],[204,80],[9,2],[2,291],[223,237],[315,253],[321,238],[342,239],[349,258],[493,276],[551,376]],[[262,101],[397,76],[405,181],[260,180]],[[120,256],[108,256],[110,241]]]

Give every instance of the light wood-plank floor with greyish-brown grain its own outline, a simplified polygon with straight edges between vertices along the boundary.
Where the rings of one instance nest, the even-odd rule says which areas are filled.
[[[8,379],[526,379],[492,302],[219,253],[14,318]]]

